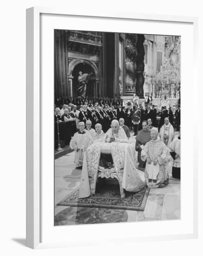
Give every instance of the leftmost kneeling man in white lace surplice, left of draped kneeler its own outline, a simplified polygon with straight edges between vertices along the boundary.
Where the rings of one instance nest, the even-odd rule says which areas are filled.
[[[92,144],[92,136],[85,133],[85,123],[79,122],[79,132],[75,133],[70,142],[71,149],[75,150],[74,162],[76,167],[82,167],[86,148]]]

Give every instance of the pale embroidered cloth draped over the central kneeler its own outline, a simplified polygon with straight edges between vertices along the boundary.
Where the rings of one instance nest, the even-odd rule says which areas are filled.
[[[108,135],[110,134],[111,131],[109,131]],[[107,139],[108,135],[106,134]],[[121,141],[125,140],[124,138],[118,139]],[[95,194],[99,159],[102,149],[106,147],[111,152],[120,186],[126,191],[131,192],[137,192],[144,188],[144,173],[135,167],[135,149],[131,144],[126,142],[96,142],[86,149],[84,155],[79,198]]]

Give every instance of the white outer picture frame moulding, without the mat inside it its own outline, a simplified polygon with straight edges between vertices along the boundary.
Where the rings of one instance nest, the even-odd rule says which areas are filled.
[[[87,13],[82,11],[71,11],[71,10],[60,10],[57,8],[45,8],[45,7],[32,7],[26,10],[26,246],[32,249],[47,248],[47,247],[60,247],[70,246],[74,244],[74,236],[72,241],[46,241],[45,243],[41,240],[43,225],[43,214],[42,214],[42,202],[41,202],[41,191],[42,188],[42,119],[40,104],[42,104],[42,88],[41,77],[40,77],[40,54],[41,54],[41,41],[40,36],[42,33],[40,30],[40,15],[65,15],[71,17],[95,17],[105,18],[111,20],[146,20],[146,21],[158,21],[158,22],[169,22],[190,24],[193,27],[193,90],[197,89],[197,18],[196,17],[183,17],[183,16],[165,16],[165,15],[146,15],[140,13],[117,13],[109,12],[102,13],[98,11],[92,12],[91,10]],[[60,28],[60,27],[58,27]],[[194,103],[194,101],[193,101]],[[195,104],[195,103],[194,103]],[[194,119],[197,120],[196,114]],[[197,156],[197,134],[193,134],[193,155]],[[133,241],[153,241],[153,240],[171,240],[171,239],[194,239],[198,236],[198,169],[197,160],[193,161],[193,232],[181,233],[174,235],[157,235],[157,236],[136,236]],[[183,179],[184,182],[184,179]],[[44,183],[43,183],[44,184]],[[53,196],[53,195],[52,195]],[[142,223],[139,223],[139,225]],[[110,225],[110,224],[105,224]],[[99,225],[100,229],[104,229],[104,224]],[[119,224],[116,224],[119,225]],[[126,224],[125,224],[126,225]],[[82,229],[85,229],[83,225]],[[89,225],[88,225],[89,226]],[[112,226],[111,226],[112,227]],[[118,226],[114,226],[115,228]],[[119,226],[120,227],[120,226]],[[62,229],[58,227],[57,229]],[[70,232],[74,232],[74,229],[79,229],[77,226],[63,227],[68,229]],[[80,227],[81,228],[81,227]],[[88,228],[88,227],[87,227]],[[129,228],[129,225],[128,225]],[[93,227],[89,226],[89,229],[94,230]],[[98,229],[98,227],[97,227]],[[102,231],[101,231],[102,232]],[[122,238],[123,241],[126,237],[122,237],[118,233],[118,237]],[[130,237],[130,239],[129,239]],[[129,241],[132,241],[133,236],[129,235]],[[119,239],[118,239],[119,241]],[[79,240],[77,243],[82,244]],[[85,240],[84,240],[85,243]],[[94,241],[90,244],[94,244]]]

